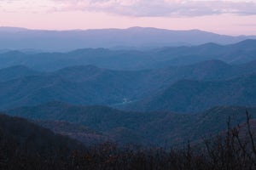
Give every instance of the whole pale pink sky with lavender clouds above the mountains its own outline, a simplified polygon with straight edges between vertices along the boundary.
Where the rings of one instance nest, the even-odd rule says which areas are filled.
[[[256,35],[256,0],[0,0],[0,26],[40,30],[142,26]]]

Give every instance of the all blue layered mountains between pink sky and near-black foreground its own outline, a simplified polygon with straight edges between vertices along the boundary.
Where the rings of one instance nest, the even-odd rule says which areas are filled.
[[[44,47],[37,42],[40,36],[45,42],[50,38],[65,42],[75,36],[85,41],[83,35],[92,41],[100,34],[106,38],[102,44],[109,41],[108,47],[81,47],[70,52],[40,52],[36,48],[12,51],[4,47],[0,53],[0,109],[84,144],[110,140],[170,146],[197,141],[207,135],[205,129],[211,128],[212,134],[223,131],[229,116],[236,125],[245,122],[246,110],[255,111],[256,40],[238,42],[248,37],[152,28],[110,29],[108,33],[1,28],[1,32],[20,41],[32,38],[40,47]],[[114,47],[115,42],[108,39],[113,32],[122,32],[113,38],[120,42],[119,49],[108,49]],[[141,46],[134,44],[136,47],[156,48],[127,48],[133,41],[129,37],[137,36],[137,32]],[[182,35],[186,35],[184,39]],[[197,42],[195,36],[201,35],[206,38],[199,38],[201,42],[207,43]],[[168,41],[174,36],[187,44],[171,47],[176,42]],[[153,37],[163,38],[161,42],[169,47],[157,44],[158,39],[152,44]],[[94,40],[90,44],[98,47]],[[65,47],[61,42],[60,47]],[[77,42],[70,42],[74,46],[69,47],[74,48]],[[236,43],[227,44],[230,42]]]

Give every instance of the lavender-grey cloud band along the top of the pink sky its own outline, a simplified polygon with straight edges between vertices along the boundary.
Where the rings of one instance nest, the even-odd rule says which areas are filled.
[[[157,17],[202,16],[212,14],[255,15],[256,0],[25,0],[34,6],[39,2],[51,11],[96,11],[110,14]],[[27,3],[22,0],[0,0],[1,3]],[[45,8],[44,8],[45,9]]]

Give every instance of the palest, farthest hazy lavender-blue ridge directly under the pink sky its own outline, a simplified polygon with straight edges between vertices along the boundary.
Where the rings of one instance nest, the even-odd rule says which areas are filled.
[[[51,51],[67,51],[76,48],[159,48],[185,44],[199,45],[206,42],[230,44],[256,38],[253,36],[231,37],[200,30],[172,31],[149,27],[71,31],[0,27],[0,37],[1,48],[33,48]]]

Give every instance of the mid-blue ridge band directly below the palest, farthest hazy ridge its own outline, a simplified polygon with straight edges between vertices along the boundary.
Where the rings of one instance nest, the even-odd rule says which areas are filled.
[[[206,43],[199,46],[154,48],[143,51],[107,48],[84,48],[67,53],[8,51],[0,53],[0,68],[26,65],[38,71],[56,71],[75,65],[95,65],[112,70],[137,71],[171,65],[192,65],[214,59],[239,65],[256,59],[255,44],[256,40],[247,39],[230,45]]]

